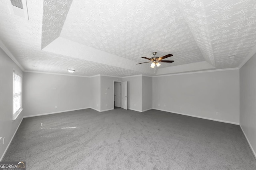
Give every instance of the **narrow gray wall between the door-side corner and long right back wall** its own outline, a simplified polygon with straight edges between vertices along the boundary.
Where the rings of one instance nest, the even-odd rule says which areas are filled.
[[[142,111],[152,109],[152,77],[142,76]]]

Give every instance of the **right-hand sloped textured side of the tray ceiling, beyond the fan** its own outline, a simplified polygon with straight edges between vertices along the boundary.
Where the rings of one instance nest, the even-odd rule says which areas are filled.
[[[202,1],[177,1],[192,35],[205,59],[215,67],[215,59],[210,41],[205,8]],[[191,8],[193,6],[193,8]]]

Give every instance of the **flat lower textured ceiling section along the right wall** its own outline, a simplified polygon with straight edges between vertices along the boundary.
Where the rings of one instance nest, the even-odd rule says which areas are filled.
[[[214,0],[204,6],[216,68],[238,67],[256,45],[256,1]]]

